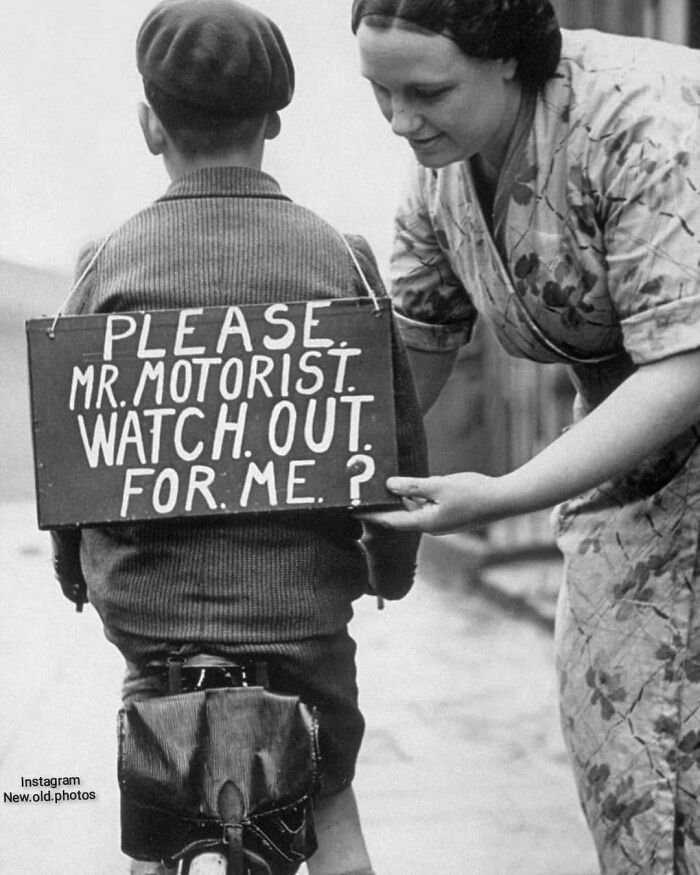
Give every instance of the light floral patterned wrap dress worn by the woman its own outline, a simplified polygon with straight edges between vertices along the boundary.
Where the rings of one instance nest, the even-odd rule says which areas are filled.
[[[416,167],[393,293],[409,345],[565,362],[583,416],[700,347],[700,52],[564,31],[484,215],[469,163]],[[698,375],[700,379],[700,374]],[[562,724],[606,875],[700,875],[700,427],[555,513]]]

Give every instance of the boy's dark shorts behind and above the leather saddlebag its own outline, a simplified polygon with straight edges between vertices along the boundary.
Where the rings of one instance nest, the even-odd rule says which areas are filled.
[[[152,659],[166,655],[182,657],[207,653],[228,659],[264,660],[270,690],[296,695],[318,709],[320,783],[319,796],[332,796],[348,787],[364,734],[364,718],[357,704],[355,642],[347,629],[335,635],[275,644],[213,646],[155,643]],[[124,704],[165,695],[161,678],[148,667],[148,659],[127,658],[122,687]]]

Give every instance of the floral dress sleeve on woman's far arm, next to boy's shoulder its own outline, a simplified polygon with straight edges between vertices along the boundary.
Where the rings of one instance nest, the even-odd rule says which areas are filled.
[[[467,343],[476,311],[431,221],[432,173],[416,166],[396,212],[391,296],[405,343],[451,349]]]

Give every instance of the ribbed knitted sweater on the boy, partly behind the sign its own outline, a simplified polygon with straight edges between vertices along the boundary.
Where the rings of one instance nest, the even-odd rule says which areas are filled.
[[[351,243],[383,294],[373,256]],[[96,245],[82,253],[78,274]],[[67,314],[261,304],[366,294],[337,231],[247,168],[207,168],[117,229]],[[393,340],[399,473],[427,468],[421,416]],[[362,543],[360,541],[362,537]],[[58,549],[78,539],[57,533]],[[375,587],[411,586],[418,538],[377,530],[346,510],[275,511],[86,528],[80,561],[107,637],[126,655],[196,642],[216,650],[333,634]]]

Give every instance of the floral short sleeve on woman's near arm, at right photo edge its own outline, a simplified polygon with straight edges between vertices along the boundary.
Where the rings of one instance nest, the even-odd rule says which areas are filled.
[[[700,77],[666,88],[599,147],[609,293],[637,364],[700,347]]]

